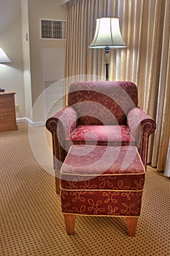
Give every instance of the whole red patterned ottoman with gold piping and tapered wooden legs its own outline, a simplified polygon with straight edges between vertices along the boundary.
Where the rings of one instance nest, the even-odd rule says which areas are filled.
[[[135,146],[71,146],[61,167],[61,209],[67,234],[77,215],[125,217],[135,236],[145,168]]]

